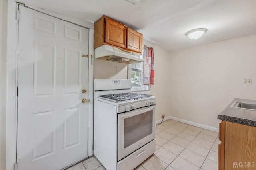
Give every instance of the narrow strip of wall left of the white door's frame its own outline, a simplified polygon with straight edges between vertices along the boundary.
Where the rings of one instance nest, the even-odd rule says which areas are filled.
[[[6,169],[6,25],[7,0],[0,0],[0,169]]]

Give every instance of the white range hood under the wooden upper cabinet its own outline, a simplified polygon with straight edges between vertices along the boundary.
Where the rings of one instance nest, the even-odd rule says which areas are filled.
[[[94,49],[95,59],[103,59],[108,61],[115,61],[118,63],[140,63],[144,60],[140,58],[140,54],[111,47],[109,45],[102,45]]]

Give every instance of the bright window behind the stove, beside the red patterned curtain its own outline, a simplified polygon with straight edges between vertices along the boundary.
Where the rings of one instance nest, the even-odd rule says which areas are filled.
[[[129,78],[132,80],[132,90],[149,90],[143,85],[143,62],[129,64]]]

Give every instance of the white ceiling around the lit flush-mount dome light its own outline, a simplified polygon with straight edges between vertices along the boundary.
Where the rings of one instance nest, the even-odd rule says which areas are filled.
[[[21,0],[28,6],[95,22],[103,14],[168,51],[256,34],[256,0]],[[185,33],[206,28],[195,40]]]

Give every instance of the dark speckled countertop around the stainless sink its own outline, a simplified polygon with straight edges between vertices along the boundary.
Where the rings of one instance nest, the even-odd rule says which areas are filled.
[[[256,104],[256,100],[235,98],[228,106],[218,115],[218,119],[230,121],[242,125],[256,127],[256,111],[230,107],[235,101],[248,102]]]

